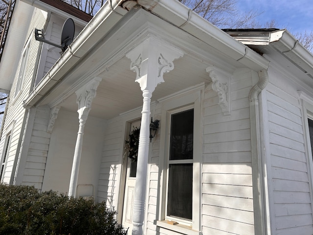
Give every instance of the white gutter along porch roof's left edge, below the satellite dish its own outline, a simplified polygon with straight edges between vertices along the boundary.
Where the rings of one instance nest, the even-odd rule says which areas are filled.
[[[127,13],[126,10],[119,7],[121,2],[123,0],[106,1],[50,71],[23,101],[24,108],[34,106]]]

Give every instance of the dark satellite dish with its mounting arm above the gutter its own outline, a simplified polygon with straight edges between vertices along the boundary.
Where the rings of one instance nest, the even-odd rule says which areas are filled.
[[[45,35],[43,33],[43,30],[35,28],[35,39],[40,42],[47,43],[49,45],[52,45],[54,47],[59,47],[62,49],[62,52],[64,52],[67,47],[73,42],[74,39],[74,33],[75,33],[75,24],[74,21],[71,18],[68,18],[62,27],[62,33],[61,33],[61,45],[49,42],[48,40],[45,40]]]

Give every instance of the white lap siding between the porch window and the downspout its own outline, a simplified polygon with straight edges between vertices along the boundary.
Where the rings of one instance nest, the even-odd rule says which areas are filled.
[[[231,79],[231,115],[224,116],[210,86],[203,101],[202,233],[253,235],[248,94],[252,73]]]

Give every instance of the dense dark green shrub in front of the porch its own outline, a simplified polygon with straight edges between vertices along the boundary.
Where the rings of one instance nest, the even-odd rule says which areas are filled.
[[[105,203],[0,184],[0,235],[126,235]]]

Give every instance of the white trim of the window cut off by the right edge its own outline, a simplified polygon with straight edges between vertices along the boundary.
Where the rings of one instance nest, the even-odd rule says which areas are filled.
[[[308,118],[313,117],[313,97],[299,91],[300,105],[302,107],[302,123],[303,123],[303,134],[304,134],[304,145],[306,150],[306,159],[307,159],[307,168],[309,175],[309,188],[310,188],[310,197],[313,201],[313,158],[311,150],[311,140],[309,133],[309,122]],[[313,204],[311,203],[311,210],[313,211]]]

